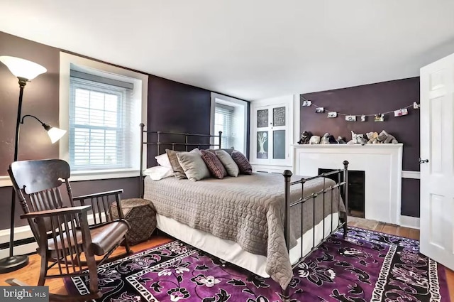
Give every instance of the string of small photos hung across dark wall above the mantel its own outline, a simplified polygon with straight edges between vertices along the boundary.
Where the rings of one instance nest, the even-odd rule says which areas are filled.
[[[418,104],[417,102],[413,102],[413,104],[409,104],[408,106],[401,107],[399,109],[391,110],[388,112],[382,112],[382,113],[377,113],[377,114],[346,114],[346,113],[341,113],[341,112],[335,112],[331,110],[327,110],[324,107],[319,107],[314,102],[309,101],[309,99],[305,99],[304,97],[301,96],[302,100],[302,106],[303,107],[315,107],[315,112],[316,113],[327,113],[328,119],[333,119],[336,118],[340,115],[345,116],[345,121],[347,122],[356,122],[356,118],[360,116],[360,121],[361,122],[366,122],[368,117],[374,117],[374,122],[384,122],[384,117],[386,114],[394,114],[394,117],[403,117],[404,115],[409,114],[409,108],[413,107],[413,109],[419,109],[421,107],[421,104]]]

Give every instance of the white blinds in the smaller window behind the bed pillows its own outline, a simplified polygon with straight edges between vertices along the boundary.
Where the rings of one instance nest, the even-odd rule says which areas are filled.
[[[222,148],[230,148],[235,144],[235,134],[233,133],[235,123],[234,112],[235,107],[223,104],[216,104],[214,109],[214,134],[217,135],[219,131],[222,131]],[[217,138],[215,144],[218,144]]]

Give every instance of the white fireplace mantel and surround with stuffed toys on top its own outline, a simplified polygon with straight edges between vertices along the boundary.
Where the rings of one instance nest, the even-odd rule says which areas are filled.
[[[319,168],[365,171],[365,218],[399,225],[402,202],[402,144],[292,145],[292,171],[314,176]]]

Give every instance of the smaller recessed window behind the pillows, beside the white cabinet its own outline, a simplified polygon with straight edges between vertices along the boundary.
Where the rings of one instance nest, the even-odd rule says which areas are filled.
[[[234,147],[246,154],[248,102],[211,93],[211,134],[222,131],[222,148]],[[214,140],[218,144],[218,139]]]

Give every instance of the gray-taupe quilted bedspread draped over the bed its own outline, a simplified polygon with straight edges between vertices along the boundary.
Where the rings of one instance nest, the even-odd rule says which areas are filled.
[[[292,180],[297,180],[294,177]],[[335,185],[325,180],[325,188]],[[304,196],[323,188],[323,178],[304,184]],[[301,197],[301,185],[292,185],[291,198]],[[284,239],[284,176],[272,173],[253,173],[221,180],[209,178],[193,182],[175,177],[158,181],[145,178],[144,198],[151,200],[157,213],[189,227],[204,230],[222,239],[237,242],[245,251],[267,257],[266,271],[282,288],[292,279],[292,265]],[[315,223],[338,212],[338,192],[325,194],[323,215],[322,195],[316,198]],[[313,226],[313,203],[303,208],[303,232]],[[341,203],[341,211],[345,207]],[[291,246],[301,232],[301,205],[291,210]]]

